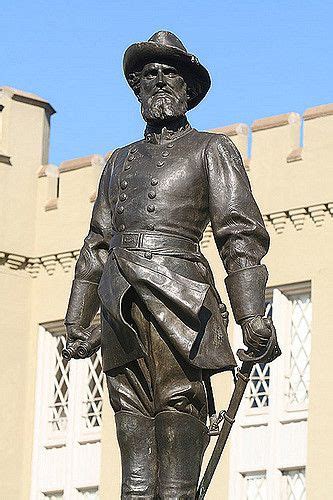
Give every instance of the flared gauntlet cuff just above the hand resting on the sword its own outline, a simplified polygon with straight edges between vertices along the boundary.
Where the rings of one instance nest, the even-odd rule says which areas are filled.
[[[249,316],[265,315],[265,289],[268,279],[266,266],[244,267],[225,279],[236,323]]]

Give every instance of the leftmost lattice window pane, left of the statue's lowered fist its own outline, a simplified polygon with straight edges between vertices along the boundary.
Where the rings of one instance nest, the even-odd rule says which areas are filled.
[[[55,364],[48,423],[51,432],[58,432],[65,431],[67,426],[69,363],[61,355],[65,347],[65,337],[54,336],[54,341]]]

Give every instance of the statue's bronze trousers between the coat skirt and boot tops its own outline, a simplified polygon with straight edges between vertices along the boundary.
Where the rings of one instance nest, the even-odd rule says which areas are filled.
[[[146,355],[107,373],[114,412],[128,411],[154,417],[164,410],[176,410],[206,423],[202,370],[181,358],[136,296],[131,305],[131,318]]]

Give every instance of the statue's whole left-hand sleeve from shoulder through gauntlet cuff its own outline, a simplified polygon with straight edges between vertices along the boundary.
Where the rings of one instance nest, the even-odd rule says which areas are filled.
[[[108,257],[112,237],[112,211],[109,202],[109,183],[116,158],[115,151],[107,161],[99,182],[92,211],[90,228],[75,267],[65,324],[88,327],[100,305],[98,284]]]

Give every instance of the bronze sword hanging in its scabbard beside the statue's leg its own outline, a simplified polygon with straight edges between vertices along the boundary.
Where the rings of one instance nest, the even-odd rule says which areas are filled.
[[[237,351],[237,356],[241,361],[243,361],[243,363],[236,374],[235,387],[228,409],[226,411],[221,411],[216,417],[216,420],[213,421],[210,426],[209,434],[213,436],[218,435],[218,438],[215,443],[212,455],[209,459],[206,471],[197,490],[196,500],[203,500],[206,496],[208,487],[211,483],[214,472],[216,470],[216,467],[218,466],[223,450],[225,448],[231,428],[233,426],[233,423],[235,422],[235,417],[244,396],[247,384],[250,380],[253,366],[256,363],[270,363],[281,354],[281,350],[276,338],[276,331],[272,322],[270,322],[270,329],[271,337],[268,341],[267,348],[264,354],[256,356],[255,353],[244,351],[243,349],[239,349]],[[219,430],[219,424],[222,421],[223,424],[221,430]]]

